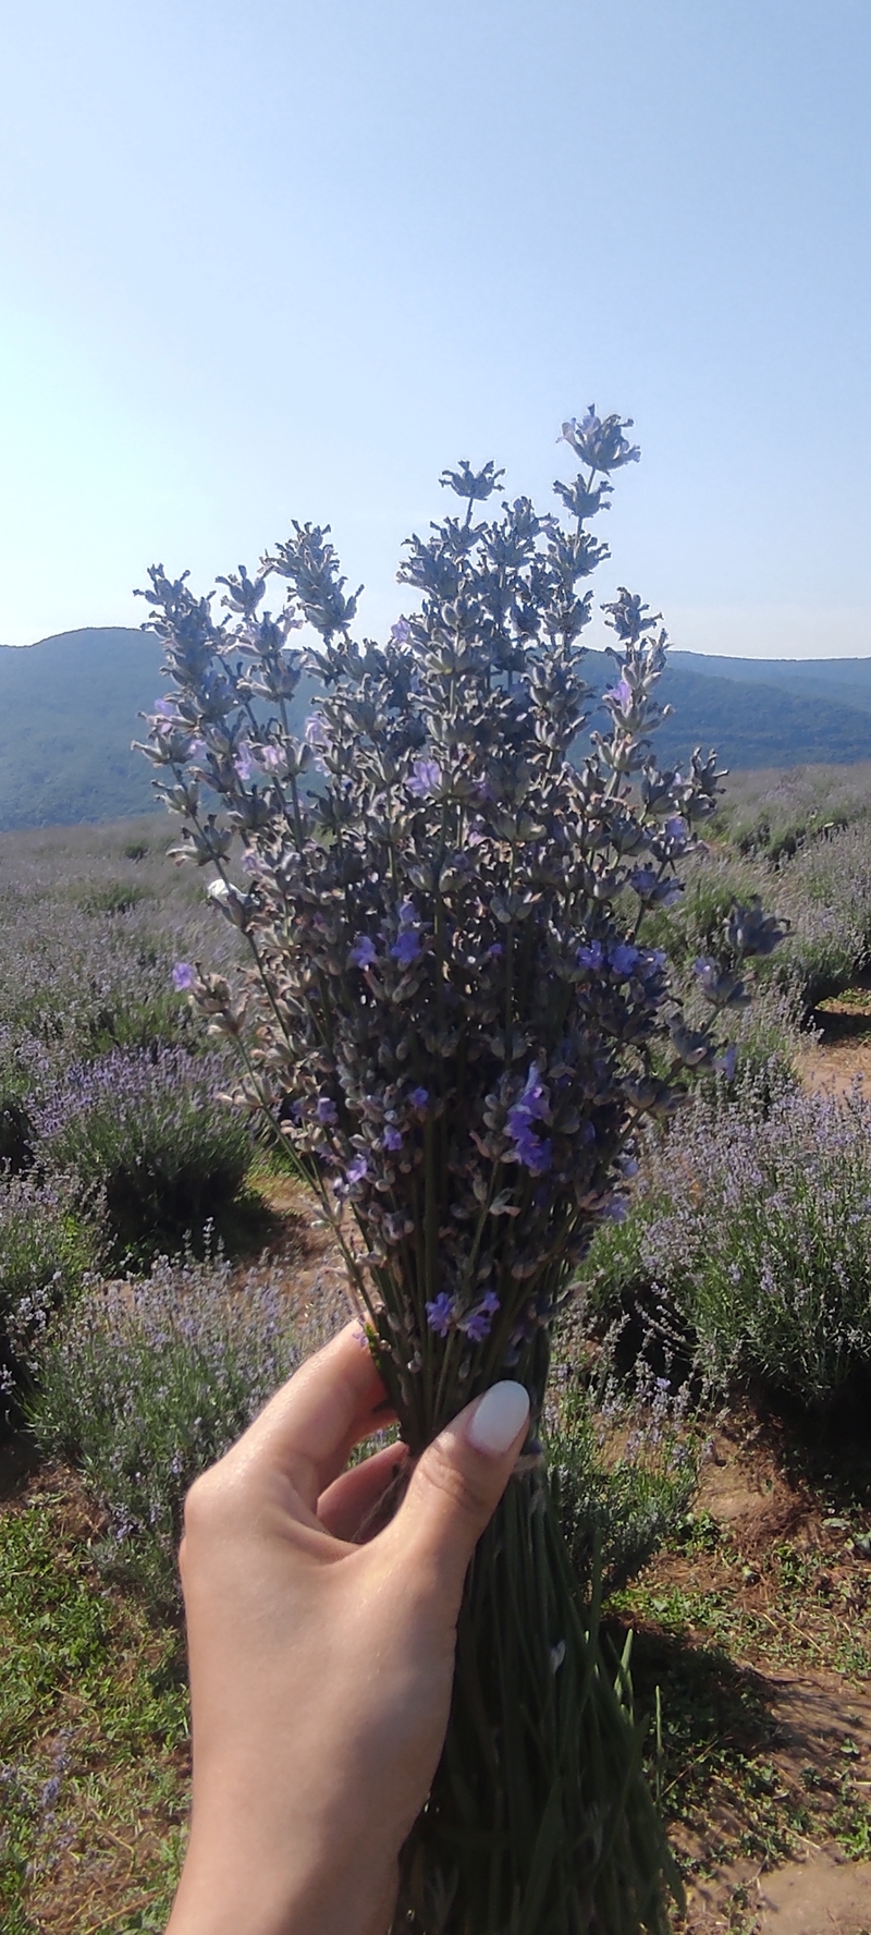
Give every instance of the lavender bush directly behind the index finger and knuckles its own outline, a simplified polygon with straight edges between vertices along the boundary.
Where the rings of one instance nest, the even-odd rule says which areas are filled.
[[[174,1596],[188,1486],[246,1430],[335,1314],[300,1320],[267,1267],[161,1258],[143,1281],[91,1287],[46,1337],[31,1428],[72,1457],[108,1511],[106,1552]]]

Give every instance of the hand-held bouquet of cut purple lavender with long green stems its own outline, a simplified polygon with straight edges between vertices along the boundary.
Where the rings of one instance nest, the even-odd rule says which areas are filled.
[[[155,784],[250,950],[234,989],[184,966],[176,983],[238,1043],[240,1097],[317,1192],[412,1455],[503,1376],[532,1397],[466,1581],[449,1736],[405,1858],[408,1935],[633,1935],[662,1929],[679,1889],[536,1438],[554,1322],[598,1219],[619,1215],[633,1130],[718,1055],[643,944],[716,760],[656,766],[666,635],[623,588],[604,608],[606,729],[579,749],[581,586],[608,557],[588,524],[639,457],[627,428],[594,408],[563,426],[581,470],[554,486],[559,517],[526,497],[478,517],[503,472],[445,472],[465,511],[408,540],[414,610],[385,644],[354,640],[356,598],[310,524],[254,579],[219,580],[219,619],[163,567],[145,592],[172,679],[149,720]],[[261,610],[273,579],[279,615]],[[732,921],[728,960],[699,964],[712,1010],[743,998],[739,960],[768,940],[759,908]]]

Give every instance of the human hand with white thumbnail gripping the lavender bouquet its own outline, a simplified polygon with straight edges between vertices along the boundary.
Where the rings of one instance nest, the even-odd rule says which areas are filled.
[[[401,1846],[441,1753],[468,1560],[526,1430],[501,1384],[418,1459],[354,1544],[405,1445],[348,1325],[186,1503],[180,1552],[194,1817],[166,1935],[385,1935]]]

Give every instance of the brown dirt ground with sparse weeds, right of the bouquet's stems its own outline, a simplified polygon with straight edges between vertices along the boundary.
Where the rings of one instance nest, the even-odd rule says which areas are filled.
[[[861,1484],[856,1490],[861,1498]],[[710,1697],[718,1654],[722,1685],[732,1678],[716,1714],[732,1765],[710,1753],[695,1819],[691,1805],[672,1829],[697,1871],[677,1927],[871,1935],[871,1563],[861,1531],[856,1540],[867,1513],[857,1521],[856,1507],[828,1509],[778,1422],[747,1413],[714,1436],[697,1515],[712,1527],[708,1550],[660,1554],[639,1608],[645,1616],[645,1606],[683,1604],[681,1645],[710,1662],[710,1680],[705,1670],[697,1680],[699,1705]],[[668,1622],[660,1633],[668,1643]],[[656,1645],[656,1627],[650,1637]],[[658,1674],[668,1726],[681,1691],[666,1652]],[[792,1842],[788,1858],[776,1852],[778,1834]]]

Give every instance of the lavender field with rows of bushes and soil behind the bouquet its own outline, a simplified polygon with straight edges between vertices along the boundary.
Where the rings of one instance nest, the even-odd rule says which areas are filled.
[[[188,1000],[199,960],[232,983],[238,935],[168,844],[155,817],[0,840],[4,1935],[163,1927],[184,1490],[346,1310],[329,1231]],[[826,1078],[871,1037],[865,793],[850,768],[834,803],[813,768],[734,782],[708,844],[646,915],[689,1012],[736,900],[790,933],[736,1062],[648,1128],[548,1416],[579,1583],[598,1546],[616,1649],[635,1633],[699,1935],[768,1927],[807,1848],[832,1889],[869,1889],[871,1858],[871,1103]]]

